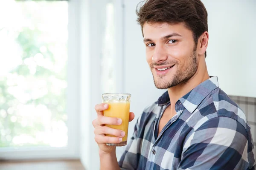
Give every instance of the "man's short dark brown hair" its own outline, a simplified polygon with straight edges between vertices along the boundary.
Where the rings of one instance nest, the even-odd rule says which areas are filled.
[[[140,6],[142,3],[143,5]],[[145,0],[137,5],[136,14],[142,34],[145,23],[184,22],[186,27],[193,32],[195,45],[197,45],[198,38],[204,31],[208,31],[208,14],[201,0]]]

